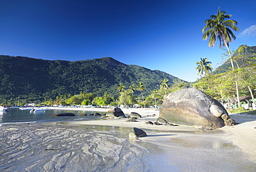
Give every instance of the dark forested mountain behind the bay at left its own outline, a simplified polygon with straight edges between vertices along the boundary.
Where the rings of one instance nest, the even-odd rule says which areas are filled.
[[[111,57],[85,61],[47,61],[24,56],[0,56],[0,98],[26,98],[44,100],[58,95],[75,95],[80,92],[102,96],[107,92],[118,96],[118,84],[143,82],[145,94],[159,89],[161,80],[167,78],[173,85],[180,81],[165,72],[138,65],[125,65]]]

